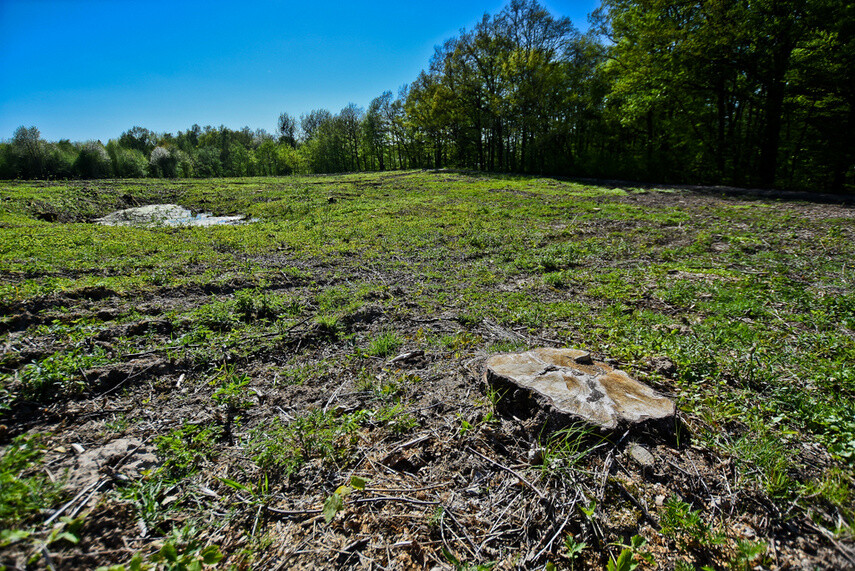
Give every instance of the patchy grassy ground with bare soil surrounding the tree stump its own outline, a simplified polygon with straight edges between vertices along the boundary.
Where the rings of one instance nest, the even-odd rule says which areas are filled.
[[[0,200],[0,565],[855,566],[849,206],[456,172]],[[91,223],[162,202],[258,222]],[[484,359],[537,346],[677,428],[502,412]]]

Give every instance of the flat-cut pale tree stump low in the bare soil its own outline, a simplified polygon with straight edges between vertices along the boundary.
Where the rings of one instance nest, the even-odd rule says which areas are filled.
[[[575,349],[494,355],[485,363],[484,380],[504,395],[500,403],[537,408],[558,426],[584,421],[614,430],[666,422],[675,413],[667,397]]]

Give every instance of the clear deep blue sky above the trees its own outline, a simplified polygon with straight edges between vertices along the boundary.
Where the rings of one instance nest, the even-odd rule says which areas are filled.
[[[117,138],[139,125],[273,132],[279,114],[367,106],[496,0],[0,0],[0,139]],[[598,0],[542,0],[587,29]]]

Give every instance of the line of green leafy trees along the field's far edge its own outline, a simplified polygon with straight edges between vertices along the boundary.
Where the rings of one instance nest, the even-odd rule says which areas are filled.
[[[407,168],[855,188],[855,4],[602,0],[581,34],[511,0],[396,94],[279,117],[277,133],[134,127],[106,145],[0,145],[0,178]]]

